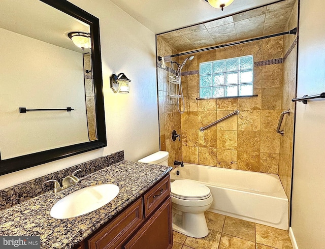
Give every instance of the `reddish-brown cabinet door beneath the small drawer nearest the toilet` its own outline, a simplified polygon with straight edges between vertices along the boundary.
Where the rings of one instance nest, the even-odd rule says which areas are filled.
[[[173,246],[172,201],[169,197],[124,246],[125,249],[167,249]]]

